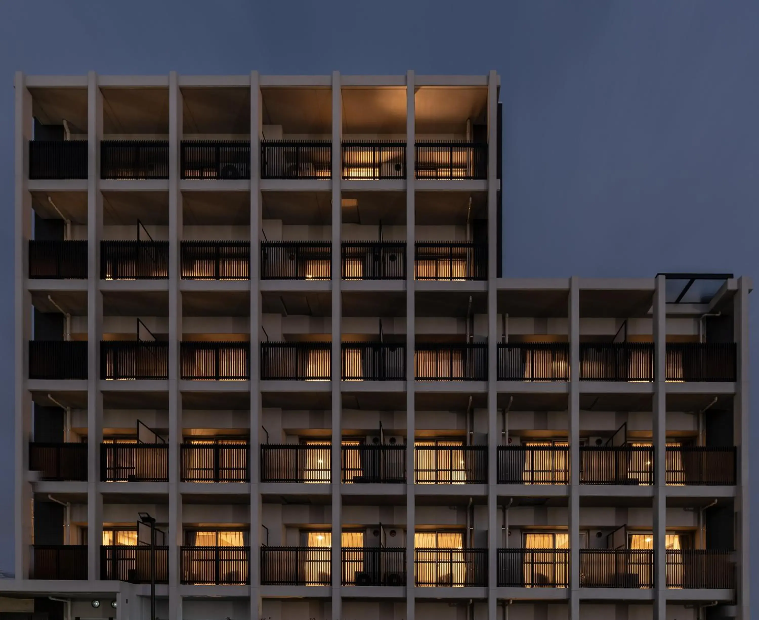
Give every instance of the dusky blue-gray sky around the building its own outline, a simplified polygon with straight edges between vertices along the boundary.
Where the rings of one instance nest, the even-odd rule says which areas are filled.
[[[0,209],[11,222],[17,70],[496,69],[505,275],[759,278],[757,27],[759,2],[739,0],[3,0]],[[13,555],[13,243],[12,226],[0,228],[0,568]],[[755,353],[755,331],[751,345]],[[759,442],[757,424],[751,439]],[[753,480],[756,491],[757,459]],[[757,557],[759,534],[752,547]]]

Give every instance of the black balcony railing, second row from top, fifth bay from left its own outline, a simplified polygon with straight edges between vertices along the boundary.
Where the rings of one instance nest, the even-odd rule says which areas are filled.
[[[344,280],[405,280],[406,244],[348,241],[342,244],[341,262]]]

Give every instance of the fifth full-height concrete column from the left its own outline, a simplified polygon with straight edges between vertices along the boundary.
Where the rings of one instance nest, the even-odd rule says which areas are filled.
[[[342,498],[340,464],[342,444],[342,298],[340,297],[340,241],[342,239],[342,209],[340,177],[342,173],[342,95],[340,72],[332,71],[332,620],[342,615],[340,565],[342,542]]]

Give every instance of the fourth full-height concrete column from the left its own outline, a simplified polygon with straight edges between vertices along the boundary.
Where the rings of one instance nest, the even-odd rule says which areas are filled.
[[[260,589],[261,496],[261,90],[250,73],[250,620],[263,617]]]

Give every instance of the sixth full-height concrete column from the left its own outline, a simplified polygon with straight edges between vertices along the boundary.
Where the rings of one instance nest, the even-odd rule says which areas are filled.
[[[406,618],[414,620],[414,529],[416,502],[414,500],[414,335],[416,333],[416,298],[414,297],[414,242],[416,241],[416,212],[414,168],[416,134],[414,71],[406,72]]]

